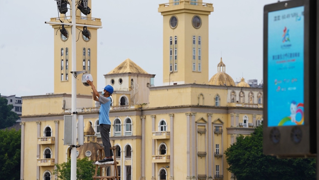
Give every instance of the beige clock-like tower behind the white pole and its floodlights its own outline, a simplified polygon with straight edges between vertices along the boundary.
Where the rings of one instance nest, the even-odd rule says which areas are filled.
[[[68,8],[71,1],[68,0]],[[91,1],[88,1],[88,7]],[[92,12],[92,11],[91,11]],[[59,14],[59,18],[51,18],[51,22],[60,22],[69,24],[71,22],[72,10],[68,9],[66,14]],[[76,23],[82,25],[101,26],[101,19],[92,18],[92,13],[84,15],[79,9],[76,11]],[[72,89],[72,38],[71,26],[64,26],[68,32],[68,37],[64,36],[60,29],[60,25],[52,25],[54,28],[54,94],[67,93],[71,94]],[[97,80],[97,28],[87,27],[90,39],[82,35],[82,26],[77,26],[77,71],[88,71],[95,81]],[[77,94],[91,95],[91,88],[85,88],[81,83],[81,76],[77,80]]]

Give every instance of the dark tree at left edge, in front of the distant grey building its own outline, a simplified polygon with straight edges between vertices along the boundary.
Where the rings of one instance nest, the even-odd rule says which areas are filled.
[[[0,97],[0,129],[11,127],[19,118],[17,113],[11,111],[12,108],[13,105],[8,105],[7,99]]]

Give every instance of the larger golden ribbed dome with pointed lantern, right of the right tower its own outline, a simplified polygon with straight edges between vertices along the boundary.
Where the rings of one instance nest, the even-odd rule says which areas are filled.
[[[226,65],[223,63],[222,58],[217,65],[217,73],[210,79],[208,84],[210,85],[222,85],[222,86],[235,86],[235,82],[226,72]]]

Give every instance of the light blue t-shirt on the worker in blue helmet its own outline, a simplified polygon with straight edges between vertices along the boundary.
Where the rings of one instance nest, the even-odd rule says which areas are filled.
[[[100,102],[100,113],[99,113],[99,123],[105,125],[111,125],[111,121],[109,120],[109,109],[111,107],[111,98],[110,97],[99,97]]]

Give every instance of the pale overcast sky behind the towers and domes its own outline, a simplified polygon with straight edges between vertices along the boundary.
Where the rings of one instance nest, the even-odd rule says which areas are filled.
[[[130,58],[162,85],[162,16],[168,0],[93,0],[98,30],[97,88],[104,76]],[[209,16],[209,79],[222,54],[226,73],[263,79],[263,9],[277,0],[204,0],[213,3]],[[54,0],[0,0],[0,93],[32,96],[53,92],[53,35],[57,17]]]

